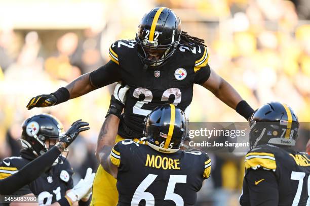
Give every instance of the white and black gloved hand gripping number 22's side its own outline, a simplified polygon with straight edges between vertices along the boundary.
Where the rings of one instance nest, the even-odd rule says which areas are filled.
[[[129,86],[122,85],[121,82],[115,86],[114,94],[111,95],[110,107],[105,117],[109,116],[110,114],[113,114],[119,118],[121,117],[122,111],[125,107],[126,92],[128,89]]]

